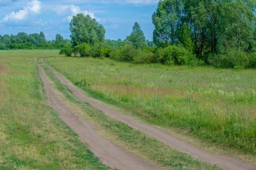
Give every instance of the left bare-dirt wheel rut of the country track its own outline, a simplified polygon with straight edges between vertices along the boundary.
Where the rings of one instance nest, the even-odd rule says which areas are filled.
[[[37,66],[44,83],[44,89],[49,97],[49,104],[59,112],[60,118],[79,135],[80,140],[87,142],[90,150],[100,158],[103,164],[121,170],[161,169],[157,165],[152,165],[131,153],[119,149],[115,144],[98,135],[87,121],[82,120],[78,114],[65,106],[55,92],[52,91],[51,84],[45,77],[38,61]]]

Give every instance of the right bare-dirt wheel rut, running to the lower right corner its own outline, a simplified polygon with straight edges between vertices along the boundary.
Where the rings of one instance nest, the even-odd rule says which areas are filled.
[[[105,112],[106,115],[109,115],[113,118],[116,118],[119,121],[122,121],[126,124],[128,124],[131,127],[134,127],[136,129],[142,130],[146,134],[157,138],[159,141],[162,141],[163,143],[167,144],[169,147],[175,148],[177,150],[180,150],[183,153],[187,153],[195,158],[199,158],[203,161],[206,161],[207,163],[217,165],[218,167],[222,167],[227,170],[256,170],[256,165],[250,164],[244,161],[241,161],[236,158],[231,158],[228,156],[217,156],[211,153],[207,153],[205,151],[199,150],[196,147],[193,147],[189,144],[186,144],[185,142],[178,140],[177,138],[173,137],[169,133],[166,133],[162,130],[156,129],[154,127],[151,127],[149,125],[145,125],[140,123],[137,120],[134,120],[132,118],[129,118],[125,115],[122,115],[121,113],[115,112],[111,109],[108,109],[107,107],[103,106],[102,104],[93,101],[90,98],[85,97],[79,89],[77,89],[75,86],[70,84],[65,78],[63,78],[58,72],[55,72],[54,69],[49,67],[44,59],[44,64],[50,69],[50,71],[61,81],[62,84],[67,86],[74,95],[76,95],[78,98],[80,98],[82,101],[85,101],[87,103],[90,103],[93,107],[102,110]]]

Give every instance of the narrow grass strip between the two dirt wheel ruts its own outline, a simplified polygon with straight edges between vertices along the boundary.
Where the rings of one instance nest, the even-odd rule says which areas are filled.
[[[111,118],[101,111],[93,108],[78,98],[76,98],[66,86],[55,78],[52,72],[46,66],[42,66],[45,74],[50,79],[52,86],[57,91],[60,98],[87,121],[94,124],[99,134],[117,143],[120,147],[125,148],[131,153],[136,154],[148,161],[170,167],[173,170],[189,169],[189,170],[215,170],[221,169],[213,165],[198,161],[191,156],[180,153],[157,141],[148,137],[139,130],[135,130],[128,125]]]

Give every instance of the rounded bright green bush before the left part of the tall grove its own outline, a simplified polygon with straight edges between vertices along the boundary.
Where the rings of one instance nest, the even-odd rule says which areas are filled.
[[[156,50],[154,61],[167,65],[196,65],[195,55],[181,46],[167,46]]]

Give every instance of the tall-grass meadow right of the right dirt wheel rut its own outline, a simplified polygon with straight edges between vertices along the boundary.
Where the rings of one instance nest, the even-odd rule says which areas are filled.
[[[256,70],[134,65],[109,59],[47,63],[94,98],[165,129],[256,155]]]

